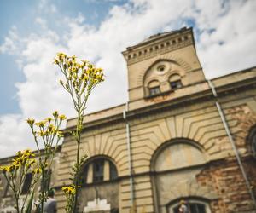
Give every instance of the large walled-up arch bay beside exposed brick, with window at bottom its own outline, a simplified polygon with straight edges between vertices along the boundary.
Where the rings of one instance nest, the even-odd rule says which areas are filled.
[[[213,195],[208,194],[212,187],[201,185],[197,179],[206,163],[207,153],[195,141],[180,138],[162,144],[151,159],[157,208],[177,213],[181,198],[185,198],[189,213],[211,212],[208,203]]]

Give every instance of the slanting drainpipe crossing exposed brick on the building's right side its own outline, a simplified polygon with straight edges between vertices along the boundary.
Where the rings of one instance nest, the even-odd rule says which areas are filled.
[[[220,118],[221,118],[221,120],[222,120],[222,123],[224,124],[224,128],[225,128],[225,130],[226,130],[226,133],[227,133],[227,135],[229,136],[230,143],[231,143],[232,148],[233,148],[233,151],[234,151],[234,153],[235,153],[235,155],[236,155],[236,161],[237,161],[237,163],[239,164],[239,167],[240,167],[240,170],[241,170],[241,174],[242,174],[242,176],[243,176],[243,178],[244,178],[244,180],[245,180],[245,182],[246,182],[247,190],[248,190],[248,192],[249,192],[249,194],[250,194],[250,196],[251,196],[251,199],[253,200],[254,206],[256,206],[256,200],[255,200],[255,197],[254,197],[254,194],[253,194],[253,190],[252,190],[252,187],[251,187],[251,185],[250,185],[250,182],[248,181],[246,171],[244,170],[244,167],[243,167],[243,165],[242,165],[242,163],[241,163],[241,157],[240,157],[240,155],[239,155],[239,153],[238,153],[238,150],[237,150],[237,148],[236,148],[236,143],[235,143],[235,141],[234,141],[234,139],[233,139],[233,137],[232,137],[232,135],[231,135],[230,127],[229,127],[229,125],[228,125],[228,123],[227,123],[227,121],[226,121],[226,118],[225,118],[225,116],[224,116],[223,109],[222,109],[222,107],[220,106],[220,104],[218,103],[218,99],[217,99],[217,98],[218,98],[218,94],[217,94],[217,92],[216,92],[216,89],[214,88],[213,83],[212,83],[210,80],[208,80],[208,84],[209,84],[210,88],[212,89],[212,94],[213,94],[214,97],[216,98],[215,105],[216,105],[216,107],[218,108],[219,116],[220,116]]]

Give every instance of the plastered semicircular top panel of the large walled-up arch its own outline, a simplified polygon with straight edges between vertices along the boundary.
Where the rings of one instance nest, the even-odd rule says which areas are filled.
[[[168,155],[167,157],[170,157],[170,155],[172,155],[172,153],[174,153],[174,156],[171,158],[175,158],[175,156],[179,155],[183,155],[185,153],[183,153],[183,148],[185,149],[185,152],[188,152],[190,154],[192,154],[191,158],[191,162],[190,164],[188,164],[188,158],[185,161],[180,161],[178,164],[175,164],[175,166],[172,166],[172,159],[170,159],[170,161],[167,161],[168,163],[166,164],[166,166],[168,166],[169,170],[170,169],[177,169],[177,168],[183,168],[183,167],[187,167],[187,166],[191,166],[191,165],[196,165],[196,164],[205,164],[207,162],[207,153],[204,150],[204,148],[201,146],[201,144],[186,139],[186,138],[175,138],[172,139],[171,141],[166,141],[164,143],[162,143],[160,145],[160,147],[158,147],[151,159],[150,159],[150,170],[151,171],[160,171],[160,168],[164,169],[164,167],[158,167],[158,170],[155,170],[156,165],[160,166],[160,164],[158,164],[158,160],[160,160],[160,162],[164,162],[164,159],[166,158],[166,155]],[[177,152],[177,153],[175,153]],[[198,154],[199,156],[195,156],[196,154]],[[160,155],[162,155],[160,157]],[[196,157],[196,158],[195,158]],[[163,158],[161,161],[160,158]],[[197,160],[197,163],[196,163]],[[173,162],[174,163],[174,162]],[[177,163],[177,162],[176,162]],[[191,164],[192,163],[192,164]]]

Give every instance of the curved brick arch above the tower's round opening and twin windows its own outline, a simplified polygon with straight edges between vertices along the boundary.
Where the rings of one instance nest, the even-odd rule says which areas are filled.
[[[140,74],[137,78],[137,86],[143,85],[144,77],[148,69],[150,69],[151,66],[154,66],[155,63],[158,63],[160,60],[168,60],[172,63],[175,63],[178,66],[181,66],[185,72],[188,72],[189,70],[191,70],[191,66],[189,66],[189,64],[181,58],[178,58],[172,55],[167,55],[167,56],[159,55],[157,57],[154,57],[154,59],[149,60],[150,66],[147,66],[140,71]]]

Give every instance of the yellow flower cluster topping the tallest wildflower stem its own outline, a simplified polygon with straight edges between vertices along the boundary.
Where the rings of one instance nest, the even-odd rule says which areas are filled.
[[[63,53],[57,54],[54,63],[61,68],[65,75],[66,82],[60,80],[61,85],[69,93],[73,90],[77,95],[82,95],[87,89],[90,92],[97,83],[104,81],[102,68],[96,68],[87,60],[81,60],[79,63],[76,56],[68,57]]]

